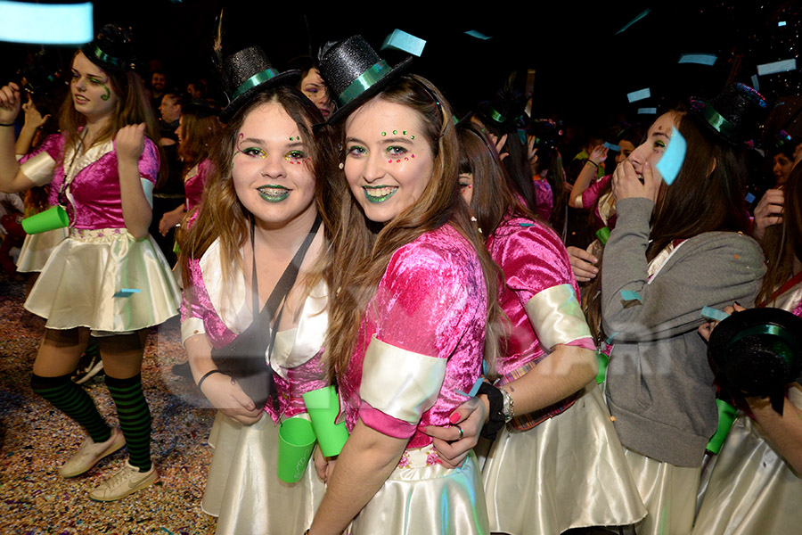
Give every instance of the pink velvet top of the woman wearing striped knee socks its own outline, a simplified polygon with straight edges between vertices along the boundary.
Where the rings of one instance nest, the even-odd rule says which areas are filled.
[[[48,202],[51,205],[59,204],[59,191],[64,182],[65,167],[70,169],[71,161],[61,161],[64,151],[65,137],[61,134],[48,136],[45,141],[31,152],[22,161],[28,160],[40,152],[47,152],[54,161],[53,182],[50,183]],[[70,216],[70,226],[75,228],[123,228],[126,226],[122,216],[122,202],[119,192],[119,172],[117,169],[117,152],[112,141],[108,152],[98,152],[96,157],[88,160],[78,157],[75,165],[83,161],[86,165],[78,171],[70,184],[70,192],[75,202],[67,202],[67,214]],[[90,147],[87,153],[93,152],[98,145]],[[21,161],[20,161],[21,162]],[[159,177],[159,151],[153,142],[145,138],[144,150],[139,158],[139,175],[152,184],[156,184]]]

